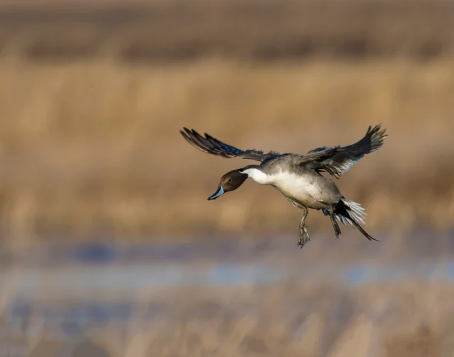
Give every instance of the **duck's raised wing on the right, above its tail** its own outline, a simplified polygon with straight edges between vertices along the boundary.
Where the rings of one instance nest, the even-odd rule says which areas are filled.
[[[326,171],[336,178],[350,169],[354,163],[366,154],[370,154],[383,145],[387,137],[386,129],[379,124],[372,128],[369,126],[365,136],[358,142],[348,146],[335,148],[316,148],[307,152],[299,160],[299,165],[304,165],[316,171]]]

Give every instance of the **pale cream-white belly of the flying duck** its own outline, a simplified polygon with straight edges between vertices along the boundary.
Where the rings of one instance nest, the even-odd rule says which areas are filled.
[[[312,172],[307,175],[282,173],[275,178],[273,185],[287,197],[314,209],[327,208],[342,197],[332,180],[315,172],[313,175]]]

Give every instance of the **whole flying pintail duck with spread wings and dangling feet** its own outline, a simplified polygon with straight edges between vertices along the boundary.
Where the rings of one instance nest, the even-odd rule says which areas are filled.
[[[294,206],[303,210],[299,224],[298,245],[301,248],[310,241],[307,231],[306,217],[309,208],[321,210],[329,216],[336,238],[341,229],[338,222],[358,229],[367,239],[377,241],[362,229],[365,224],[365,212],[360,204],[345,199],[336,183],[331,178],[321,175],[328,172],[340,178],[344,172],[364,155],[372,153],[383,145],[387,137],[386,129],[381,125],[370,127],[365,136],[352,145],[336,146],[335,148],[316,148],[306,154],[285,153],[275,151],[264,153],[260,150],[240,150],[232,145],[218,141],[209,134],[201,136],[194,129],[184,128],[179,131],[188,143],[204,153],[221,156],[222,158],[243,158],[260,161],[260,165],[248,165],[227,172],[221,177],[218,190],[208,199],[216,199],[225,192],[236,190],[246,179],[252,178],[262,185],[271,185],[289,199]]]

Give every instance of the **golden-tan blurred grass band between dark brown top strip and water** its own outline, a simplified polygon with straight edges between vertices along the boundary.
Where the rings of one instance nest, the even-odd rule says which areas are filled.
[[[382,123],[389,138],[341,177],[345,196],[367,208],[372,229],[452,226],[451,60],[0,63],[9,236],[297,229],[301,212],[253,182],[207,202],[221,175],[247,162],[195,150],[182,126],[240,148],[304,153]],[[310,224],[322,217],[311,213]]]

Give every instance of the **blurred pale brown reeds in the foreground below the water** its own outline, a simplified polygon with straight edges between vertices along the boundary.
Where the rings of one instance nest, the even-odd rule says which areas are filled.
[[[57,357],[62,351],[81,357],[447,357],[454,344],[453,308],[445,299],[452,293],[447,285],[418,282],[356,289],[188,288],[154,292],[155,297],[146,302],[133,302],[135,313],[130,319],[86,328],[74,322],[39,324],[40,312],[48,305],[38,302],[35,318],[28,320],[28,341],[23,340],[25,334],[13,341],[28,346],[30,357]],[[65,306],[54,304],[56,309],[48,311]],[[71,302],[67,308],[74,311]],[[153,319],[144,319],[153,312]],[[59,328],[64,335],[62,330],[71,330],[71,324],[79,329],[71,340],[52,337]]]

